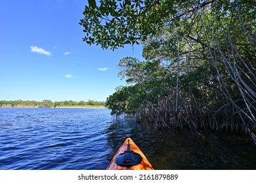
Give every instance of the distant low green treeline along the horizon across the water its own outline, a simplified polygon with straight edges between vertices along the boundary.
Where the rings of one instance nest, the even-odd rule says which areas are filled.
[[[103,101],[0,101],[0,107],[38,107],[38,108],[58,108],[58,107],[105,107]]]

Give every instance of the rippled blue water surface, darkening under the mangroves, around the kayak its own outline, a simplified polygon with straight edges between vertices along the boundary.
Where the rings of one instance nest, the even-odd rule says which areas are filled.
[[[113,122],[107,109],[0,108],[0,169],[106,169],[131,137],[155,169],[256,169],[256,146],[235,135]]]

